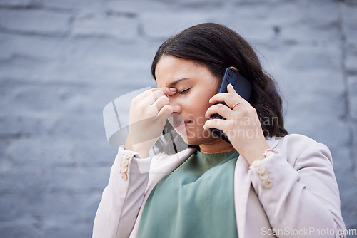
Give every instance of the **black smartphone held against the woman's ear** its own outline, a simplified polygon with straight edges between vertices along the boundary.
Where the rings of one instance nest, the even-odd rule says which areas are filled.
[[[241,95],[242,98],[249,101],[249,98],[251,97],[251,82],[248,81],[248,79],[241,76],[241,74],[239,74],[238,71],[236,71],[234,68],[231,67],[226,68],[226,71],[223,73],[217,93],[227,93],[227,86],[229,83],[231,83],[233,88],[236,90],[236,92],[239,95]],[[226,105],[226,103],[224,102],[218,102],[218,103]],[[211,115],[211,119],[213,118],[226,120],[226,118],[223,118],[218,113]],[[227,135],[223,133],[222,130],[218,130],[216,128],[210,128],[210,129],[211,131],[213,131],[213,133],[218,135],[220,138],[226,140],[226,142],[228,143],[231,143],[228,140]]]

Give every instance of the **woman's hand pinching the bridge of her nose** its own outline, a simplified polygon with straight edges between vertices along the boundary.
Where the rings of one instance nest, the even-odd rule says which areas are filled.
[[[148,157],[173,112],[168,96],[175,93],[176,88],[151,88],[131,101],[126,150]]]

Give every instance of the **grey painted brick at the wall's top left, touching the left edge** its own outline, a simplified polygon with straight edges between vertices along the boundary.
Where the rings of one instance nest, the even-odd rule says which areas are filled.
[[[19,33],[64,35],[69,31],[67,14],[41,10],[0,9],[0,28]]]

